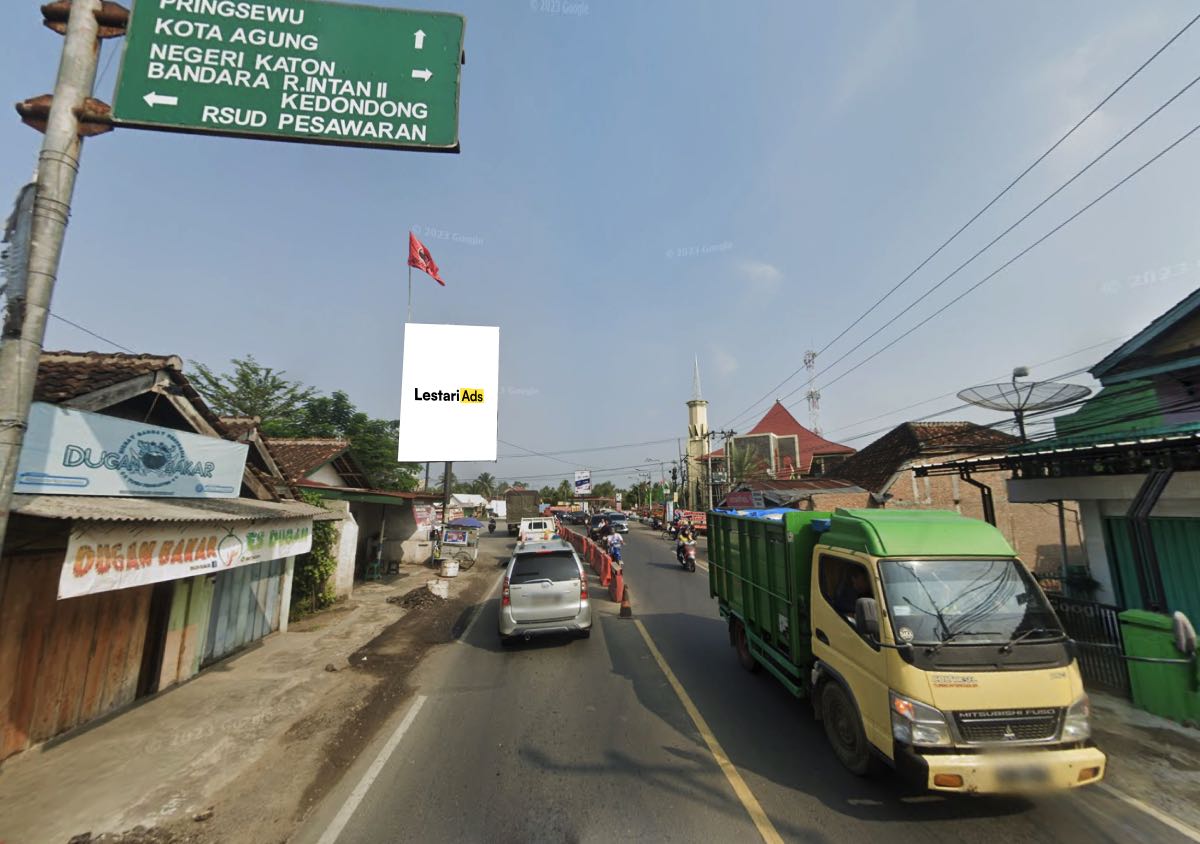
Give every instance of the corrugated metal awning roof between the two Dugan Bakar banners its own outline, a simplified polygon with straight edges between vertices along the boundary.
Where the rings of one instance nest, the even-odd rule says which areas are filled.
[[[86,521],[262,521],[325,517],[329,510],[301,502],[251,498],[124,498],[120,496],[14,495],[12,511],[40,519]]]

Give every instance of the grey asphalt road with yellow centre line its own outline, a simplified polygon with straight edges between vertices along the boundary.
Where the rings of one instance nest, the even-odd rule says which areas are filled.
[[[511,547],[485,543],[496,555]],[[680,569],[641,526],[625,563],[635,616],[695,713],[642,629],[607,600],[595,603],[588,640],[505,650],[493,591],[463,638],[426,659],[413,702],[296,840],[1188,840],[1096,789],[960,798],[854,777],[803,701],[738,666],[703,569]],[[727,755],[725,771],[692,714]]]

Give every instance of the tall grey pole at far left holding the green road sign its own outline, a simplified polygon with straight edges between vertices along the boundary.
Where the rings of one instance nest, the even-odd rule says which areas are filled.
[[[46,339],[54,281],[62,256],[62,239],[71,215],[79,172],[77,109],[91,97],[100,59],[101,0],[72,0],[54,100],[46,138],[37,157],[37,196],[34,199],[29,283],[19,328],[0,343],[0,547],[8,529],[17,460],[25,439],[29,406],[34,400],[37,364]]]

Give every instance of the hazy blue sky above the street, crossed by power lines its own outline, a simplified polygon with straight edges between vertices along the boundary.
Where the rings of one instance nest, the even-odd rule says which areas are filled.
[[[134,130],[89,140],[54,311],[139,352],[211,365],[254,354],[394,417],[406,232],[416,227],[448,282],[414,280],[416,319],[502,329],[503,439],[557,451],[684,436],[694,355],[709,421],[726,426],[1200,11],[1094,0],[379,5],[467,16],[461,155]],[[50,90],[60,40],[40,25],[36,4],[10,17],[2,38],[4,98]],[[97,88],[109,102],[113,49]],[[818,369],[1187,84],[1198,54],[1200,24]],[[817,384],[990,273],[1198,114],[1200,85]],[[5,202],[40,139],[11,112],[0,121]],[[863,447],[872,438],[864,433],[956,402],[898,408],[1132,334],[1183,298],[1200,283],[1198,162],[1200,134],[823,389],[826,433]],[[1034,376],[1085,366],[1112,345]],[[113,351],[56,321],[47,347]],[[803,389],[787,403],[803,421],[802,399]],[[752,425],[768,403],[733,427]],[[505,457],[456,473],[556,483],[544,475],[674,451],[660,443],[565,463]],[[500,454],[518,450],[502,444]]]

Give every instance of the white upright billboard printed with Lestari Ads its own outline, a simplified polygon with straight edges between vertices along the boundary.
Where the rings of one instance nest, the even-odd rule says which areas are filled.
[[[496,460],[500,329],[404,325],[400,462]]]

